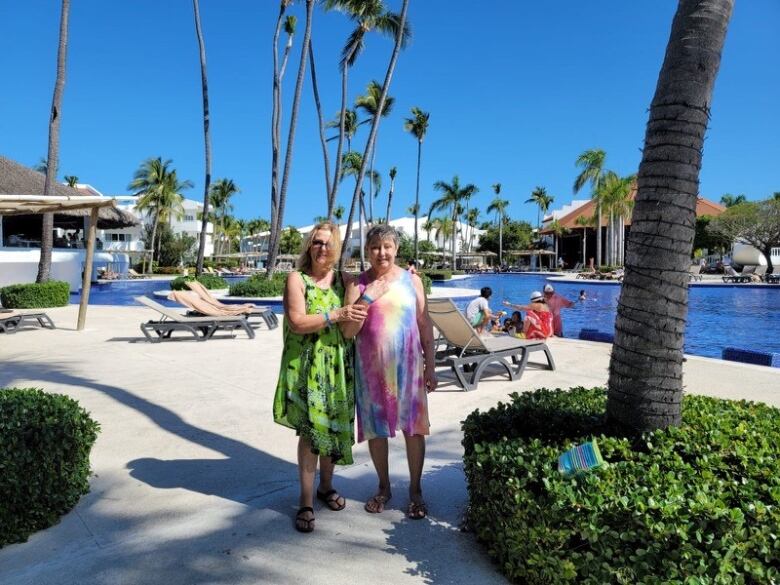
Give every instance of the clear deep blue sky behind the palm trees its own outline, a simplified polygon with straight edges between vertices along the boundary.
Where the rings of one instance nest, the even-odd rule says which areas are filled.
[[[400,9],[400,0],[388,0]],[[423,147],[421,203],[436,180],[480,188],[484,210],[500,182],[509,215],[536,221],[523,203],[545,186],[553,207],[572,200],[574,160],[585,149],[607,151],[607,166],[636,172],[647,108],[655,90],[677,3],[411,0],[414,37],[398,62],[382,121],[376,168],[398,167],[393,216],[414,201],[416,142],[403,130],[412,106],[431,113]],[[241,188],[235,215],[269,217],[271,38],[276,0],[201,0],[213,136],[213,177]],[[293,93],[299,35],[285,77]],[[0,154],[34,165],[46,153],[55,77],[59,2],[0,0]],[[701,193],[760,199],[780,191],[780,2],[742,0],[732,18],[712,121],[705,142]],[[314,41],[326,115],[340,100],[338,55],[350,23],[317,10]],[[382,80],[392,43],[369,36],[350,72],[349,100]],[[307,72],[308,75],[308,72]],[[289,113],[289,101],[285,100]],[[192,3],[187,0],[72,2],[70,50],[62,109],[60,176],[74,174],[106,194],[126,194],[146,158],[174,161],[203,195],[200,69]],[[286,136],[286,124],[283,134]],[[358,133],[360,150],[368,126]],[[335,145],[335,143],[332,143]],[[339,203],[349,203],[346,181]],[[587,194],[585,194],[587,195]],[[322,155],[311,86],[304,87],[286,224],[325,211]]]

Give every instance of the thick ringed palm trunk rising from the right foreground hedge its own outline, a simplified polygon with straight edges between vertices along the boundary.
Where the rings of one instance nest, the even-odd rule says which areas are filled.
[[[641,431],[681,420],[701,153],[733,5],[680,0],[650,106],[607,400],[612,420]]]

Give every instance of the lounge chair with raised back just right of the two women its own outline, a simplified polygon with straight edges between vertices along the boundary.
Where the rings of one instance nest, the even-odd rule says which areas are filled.
[[[481,337],[450,299],[428,299],[428,315],[439,331],[440,341],[445,342],[445,347],[436,352],[436,363],[452,368],[464,390],[475,390],[491,364],[503,366],[510,380],[519,379],[529,354],[535,351],[544,352],[547,367],[555,369],[552,353],[543,339]]]

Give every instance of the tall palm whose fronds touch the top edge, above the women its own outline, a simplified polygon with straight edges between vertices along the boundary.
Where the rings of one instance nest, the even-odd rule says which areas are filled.
[[[405,0],[407,1],[407,0]],[[349,69],[355,64],[358,55],[363,51],[365,36],[376,31],[390,38],[397,38],[401,32],[401,44],[411,36],[409,27],[401,15],[386,9],[384,0],[323,0],[326,10],[340,10],[355,23],[355,28],[347,38],[347,42],[341,51],[341,112],[339,114],[339,141],[336,146],[336,170],[333,178],[333,191],[330,195],[329,207],[335,204],[340,183],[341,158],[344,147],[344,122],[347,111],[347,78]],[[402,10],[403,12],[403,10]],[[354,206],[353,206],[354,207]],[[350,215],[352,215],[350,213]],[[349,225],[347,226],[349,231]]]

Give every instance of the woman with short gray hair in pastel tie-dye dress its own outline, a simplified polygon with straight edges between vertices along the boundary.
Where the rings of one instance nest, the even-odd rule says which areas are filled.
[[[378,513],[390,500],[388,438],[401,431],[409,460],[409,518],[427,514],[420,479],[429,434],[427,393],[436,389],[433,327],[417,275],[395,265],[398,233],[386,224],[371,228],[366,252],[371,268],[347,288],[345,302],[365,304],[362,324],[345,323],[356,336],[355,399],[358,441],[368,440],[379,487],[366,511]]]

